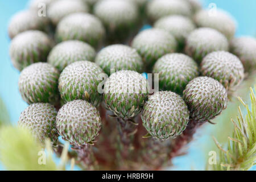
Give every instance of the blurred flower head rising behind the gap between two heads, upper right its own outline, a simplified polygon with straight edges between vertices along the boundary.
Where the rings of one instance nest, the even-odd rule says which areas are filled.
[[[155,22],[154,27],[170,32],[179,43],[180,49],[183,49],[185,39],[196,28],[191,19],[181,15],[171,15],[160,18]]]

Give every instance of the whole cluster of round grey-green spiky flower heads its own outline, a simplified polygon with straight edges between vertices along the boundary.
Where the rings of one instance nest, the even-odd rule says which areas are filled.
[[[152,28],[139,32],[145,22]],[[220,114],[229,90],[255,70],[256,40],[235,32],[230,15],[196,0],[31,1],[9,24],[11,61],[30,104],[19,126],[42,142],[93,143],[102,104],[125,122],[141,114],[155,138],[175,138],[189,119]],[[143,72],[158,78],[154,94]]]

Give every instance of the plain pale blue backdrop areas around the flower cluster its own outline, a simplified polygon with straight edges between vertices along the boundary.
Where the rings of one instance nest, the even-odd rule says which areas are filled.
[[[237,35],[256,35],[256,1],[255,0],[205,0],[204,7],[216,3],[217,7],[229,11],[237,20]],[[19,114],[27,107],[18,91],[19,72],[13,68],[9,57],[10,40],[7,36],[7,25],[11,15],[26,8],[27,0],[0,1],[0,96],[9,110],[11,121],[16,123]],[[188,155],[176,158],[175,169],[204,169],[205,160],[199,145],[204,143],[200,137],[191,144]],[[0,166],[1,169],[1,166]]]

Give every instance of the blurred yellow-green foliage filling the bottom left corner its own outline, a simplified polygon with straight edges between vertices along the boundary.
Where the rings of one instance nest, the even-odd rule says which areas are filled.
[[[10,126],[0,129],[0,162],[7,170],[56,170],[51,152],[47,153],[29,131]]]

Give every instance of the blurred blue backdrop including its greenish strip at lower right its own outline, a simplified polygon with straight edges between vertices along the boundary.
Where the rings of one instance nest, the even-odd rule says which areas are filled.
[[[204,8],[208,8],[210,3],[216,3],[217,8],[228,11],[237,20],[236,36],[250,35],[256,36],[256,1],[255,0],[203,0]],[[20,113],[27,107],[19,94],[18,78],[19,72],[13,67],[9,56],[10,39],[7,35],[7,26],[13,14],[27,7],[27,0],[9,0],[0,1],[0,98],[6,106],[10,121],[16,125]],[[255,82],[254,82],[255,83]],[[246,82],[237,90],[245,101],[249,98],[249,86],[253,82]],[[217,148],[213,142],[212,136],[216,137],[220,143],[226,143],[228,136],[232,133],[232,123],[230,118],[236,118],[237,106],[239,102],[234,98],[228,109],[215,119],[217,125],[205,125],[197,132],[195,140],[189,144],[187,154],[174,159],[174,167],[170,170],[204,170],[208,162],[209,151]],[[0,101],[1,104],[1,101]],[[0,110],[3,112],[3,110]],[[0,169],[4,169],[0,163]],[[256,167],[251,170],[255,170]]]

